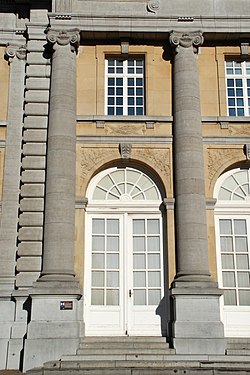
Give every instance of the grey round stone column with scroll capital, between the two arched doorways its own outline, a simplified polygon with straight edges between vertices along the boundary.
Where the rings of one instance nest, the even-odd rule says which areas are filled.
[[[174,57],[177,278],[209,277],[198,56],[201,34],[170,37]]]

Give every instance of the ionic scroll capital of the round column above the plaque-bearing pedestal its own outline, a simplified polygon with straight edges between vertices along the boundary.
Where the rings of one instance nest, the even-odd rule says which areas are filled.
[[[80,43],[80,34],[78,29],[70,30],[52,30],[49,29],[47,32],[47,41],[52,45],[56,43],[59,46],[66,46],[70,44],[75,50],[78,48]]]

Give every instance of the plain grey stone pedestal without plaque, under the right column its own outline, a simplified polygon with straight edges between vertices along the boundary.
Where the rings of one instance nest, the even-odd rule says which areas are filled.
[[[212,281],[174,283],[170,291],[171,331],[177,354],[225,354],[220,296]]]

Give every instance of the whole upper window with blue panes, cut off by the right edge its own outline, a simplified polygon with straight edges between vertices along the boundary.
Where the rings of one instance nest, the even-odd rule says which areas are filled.
[[[229,116],[250,116],[250,61],[226,61]]]

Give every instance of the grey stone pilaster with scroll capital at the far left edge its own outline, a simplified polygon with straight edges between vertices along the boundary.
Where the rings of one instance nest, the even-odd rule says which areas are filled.
[[[0,230],[0,294],[15,285],[26,47],[9,45],[10,63],[3,200]]]

